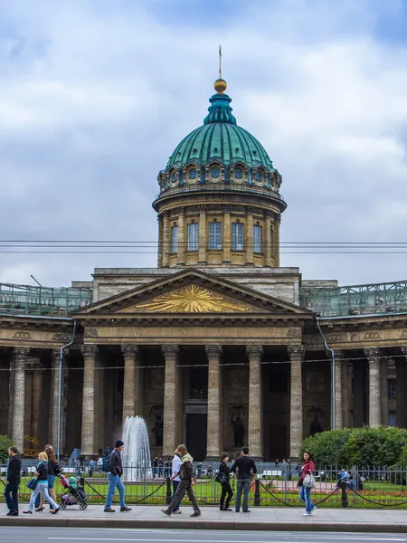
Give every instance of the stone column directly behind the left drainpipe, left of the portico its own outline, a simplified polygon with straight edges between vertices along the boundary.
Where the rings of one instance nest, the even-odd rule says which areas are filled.
[[[51,379],[51,417],[50,417],[50,443],[56,454],[58,447],[58,412],[60,405],[60,359],[61,349],[52,349],[52,379]],[[60,453],[62,452],[62,434],[63,434],[63,375],[65,369],[65,356],[62,358],[62,374],[61,374],[61,433],[60,433]]]

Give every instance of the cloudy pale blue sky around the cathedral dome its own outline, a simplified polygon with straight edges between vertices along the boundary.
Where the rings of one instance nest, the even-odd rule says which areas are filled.
[[[0,247],[0,282],[156,267],[156,176],[203,122],[220,41],[233,113],[283,178],[281,242],[407,242],[406,1],[0,0],[0,13],[0,238],[148,252]],[[280,264],[346,285],[407,280],[406,256]]]

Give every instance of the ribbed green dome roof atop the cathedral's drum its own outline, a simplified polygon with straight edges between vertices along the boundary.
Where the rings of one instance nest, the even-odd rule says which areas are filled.
[[[209,100],[209,114],[204,125],[194,129],[175,148],[168,160],[170,167],[182,168],[194,163],[205,166],[213,161],[224,166],[241,163],[247,167],[265,167],[273,172],[273,164],[265,148],[250,132],[236,124],[229,105],[232,99],[223,93]]]

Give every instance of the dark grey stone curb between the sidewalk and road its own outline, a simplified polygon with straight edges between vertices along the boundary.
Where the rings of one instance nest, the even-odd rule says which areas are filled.
[[[44,519],[1,517],[0,526],[27,526],[50,528],[105,528],[105,529],[216,529],[252,531],[339,531],[370,533],[407,533],[407,523],[374,522],[290,522],[290,521],[237,521],[237,520],[181,520],[181,519]]]

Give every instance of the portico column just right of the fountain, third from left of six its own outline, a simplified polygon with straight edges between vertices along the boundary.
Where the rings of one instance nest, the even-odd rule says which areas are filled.
[[[177,345],[161,346],[166,360],[164,385],[164,421],[163,421],[163,457],[174,455],[179,444],[181,395],[179,390],[178,361],[179,348]]]

